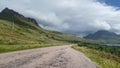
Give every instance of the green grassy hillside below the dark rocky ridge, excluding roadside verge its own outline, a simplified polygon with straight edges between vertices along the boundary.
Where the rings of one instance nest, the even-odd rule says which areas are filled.
[[[24,21],[25,22],[25,21]],[[29,23],[29,22],[25,22]],[[30,25],[30,24],[29,24]],[[57,42],[86,42],[86,40],[59,32],[44,30],[34,24],[35,29],[0,20],[0,44],[26,44],[26,43],[57,43]]]

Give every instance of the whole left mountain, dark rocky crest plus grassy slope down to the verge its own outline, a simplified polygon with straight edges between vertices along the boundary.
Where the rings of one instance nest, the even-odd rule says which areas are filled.
[[[88,42],[73,35],[41,28],[33,18],[5,8],[0,13],[0,44],[54,44]]]

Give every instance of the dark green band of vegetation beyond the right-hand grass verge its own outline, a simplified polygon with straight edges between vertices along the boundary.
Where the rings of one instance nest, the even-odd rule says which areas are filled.
[[[120,57],[120,47],[119,46],[108,46],[102,44],[91,44],[91,43],[79,43],[78,46],[85,46],[91,49],[104,51],[106,53],[114,54]]]

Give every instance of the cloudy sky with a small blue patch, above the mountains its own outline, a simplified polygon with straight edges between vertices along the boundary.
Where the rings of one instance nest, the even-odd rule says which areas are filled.
[[[78,36],[109,30],[120,34],[120,0],[1,0],[5,7],[35,18],[41,27]]]

